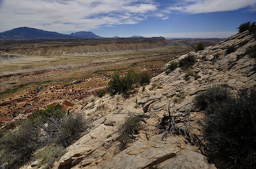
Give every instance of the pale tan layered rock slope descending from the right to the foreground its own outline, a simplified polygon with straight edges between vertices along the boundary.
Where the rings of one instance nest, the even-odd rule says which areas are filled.
[[[235,45],[236,51],[226,54],[226,47]],[[181,114],[193,107],[193,98],[197,93],[207,89],[214,83],[228,84],[232,92],[236,93],[242,87],[256,84],[255,59],[251,58],[252,48],[256,46],[255,39],[248,32],[235,34],[220,42],[218,45],[209,46],[200,52],[190,52],[178,57],[177,61],[187,55],[194,55],[197,63],[193,66],[196,75],[184,79],[185,72],[180,68],[166,75],[161,73],[154,77],[152,82],[159,86],[152,90],[151,85],[137,89],[137,93],[129,98],[121,95],[115,97],[83,99],[78,103],[86,106],[79,107],[76,112],[82,113],[92,120],[91,129],[86,135],[68,147],[68,152],[55,162],[55,168],[148,168],[158,165],[158,168],[215,168],[207,162],[206,156],[196,145],[190,144],[184,137],[170,135],[162,139],[163,133],[155,126],[159,123],[164,113],[167,113],[168,103],[181,92],[186,93],[181,103],[175,104],[171,109],[173,114]],[[167,67],[165,65],[165,67]],[[139,108],[135,108],[138,100]],[[94,106],[92,106],[94,105]],[[201,117],[199,110],[191,111],[194,121],[191,125],[197,128],[196,119]],[[136,140],[121,150],[116,140],[117,127],[124,121],[128,114],[145,114],[147,123],[141,123],[143,129]],[[198,130],[193,130],[199,134]],[[111,137],[107,138],[108,135]],[[33,165],[35,166],[35,165]],[[23,168],[32,168],[30,164]],[[39,168],[35,166],[33,168]]]

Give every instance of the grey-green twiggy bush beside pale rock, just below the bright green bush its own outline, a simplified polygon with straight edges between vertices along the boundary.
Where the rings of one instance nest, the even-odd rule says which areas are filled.
[[[88,128],[88,123],[82,114],[66,114],[62,118],[48,118],[47,126],[42,128],[46,135],[44,142],[46,145],[55,143],[59,146],[67,147],[79,138],[79,134]]]

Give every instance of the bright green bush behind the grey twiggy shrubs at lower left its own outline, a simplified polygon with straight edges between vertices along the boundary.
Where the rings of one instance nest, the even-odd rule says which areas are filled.
[[[35,120],[36,118],[46,119],[48,117],[57,118],[63,116],[66,113],[65,110],[62,110],[62,106],[58,103],[55,106],[50,106],[47,109],[37,109],[33,112],[30,120]]]

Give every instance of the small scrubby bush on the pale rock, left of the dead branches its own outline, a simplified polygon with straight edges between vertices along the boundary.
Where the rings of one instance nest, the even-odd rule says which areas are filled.
[[[122,145],[127,145],[131,143],[134,139],[134,134],[138,134],[141,125],[141,118],[138,116],[127,117],[123,124],[121,124],[117,129],[118,140]]]

